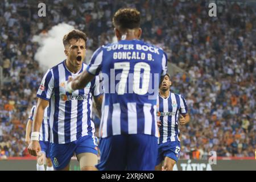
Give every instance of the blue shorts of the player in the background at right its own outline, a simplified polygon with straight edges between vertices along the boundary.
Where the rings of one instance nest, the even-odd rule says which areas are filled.
[[[174,159],[175,162],[180,156],[180,142],[166,142],[158,144],[158,158],[156,159],[156,166],[160,164],[165,157]]]

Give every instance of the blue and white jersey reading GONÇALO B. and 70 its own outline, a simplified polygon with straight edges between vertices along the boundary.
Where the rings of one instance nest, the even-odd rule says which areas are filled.
[[[158,137],[156,97],[160,77],[167,72],[163,49],[141,40],[120,40],[98,48],[86,71],[101,72],[104,78],[102,138],[125,134]]]

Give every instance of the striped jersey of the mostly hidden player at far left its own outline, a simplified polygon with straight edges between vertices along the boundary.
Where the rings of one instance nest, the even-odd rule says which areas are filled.
[[[31,119],[32,122],[34,122],[35,119],[35,109],[36,106],[34,105],[30,111],[30,115],[28,116],[28,119]],[[43,122],[42,125],[40,127],[40,131],[39,131],[39,140],[40,141],[44,141],[44,142],[48,142],[49,141],[49,107],[46,107],[46,109],[44,110],[44,117],[43,117]]]

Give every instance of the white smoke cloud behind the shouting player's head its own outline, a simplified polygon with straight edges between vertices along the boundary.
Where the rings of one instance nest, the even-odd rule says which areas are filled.
[[[46,34],[41,33],[32,38],[32,42],[38,42],[40,45],[34,58],[39,61],[42,69],[52,68],[66,58],[62,39],[65,34],[74,29],[69,24],[60,23],[53,26]]]

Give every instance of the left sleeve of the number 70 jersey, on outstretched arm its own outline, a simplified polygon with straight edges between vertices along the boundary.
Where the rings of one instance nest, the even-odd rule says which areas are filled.
[[[102,60],[103,60],[103,48],[100,47],[93,53],[92,59],[90,60],[90,63],[86,68],[86,71],[92,75],[98,75],[98,73],[100,73],[101,71]]]

